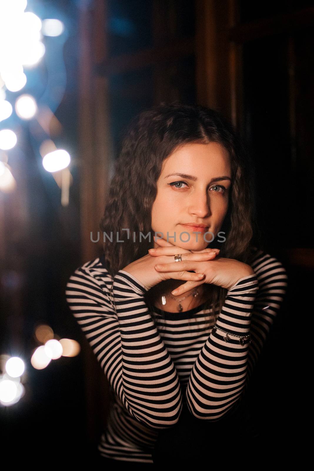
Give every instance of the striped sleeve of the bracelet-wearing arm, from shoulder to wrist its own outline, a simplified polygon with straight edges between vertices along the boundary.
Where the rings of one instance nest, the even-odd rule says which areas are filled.
[[[225,333],[219,330],[211,332],[193,365],[186,400],[199,419],[217,421],[234,408],[283,301],[285,269],[268,254],[261,262],[259,254],[258,263],[251,262],[255,274],[239,279],[228,290],[217,318],[217,326],[231,333],[230,340],[225,342]],[[232,333],[250,333],[252,341],[240,344]]]

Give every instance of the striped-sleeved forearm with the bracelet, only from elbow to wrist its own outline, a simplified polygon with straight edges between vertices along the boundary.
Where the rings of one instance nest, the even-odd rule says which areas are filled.
[[[186,400],[190,412],[199,419],[219,420],[235,405],[246,380],[251,312],[259,284],[255,274],[238,280],[226,295],[217,318],[218,329],[211,332],[193,365]],[[221,328],[228,332],[219,330]],[[226,337],[226,340],[224,340]]]

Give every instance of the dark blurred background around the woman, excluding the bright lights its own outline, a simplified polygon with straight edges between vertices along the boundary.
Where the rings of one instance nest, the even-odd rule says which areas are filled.
[[[41,3],[33,2],[35,13]],[[33,458],[45,452],[89,459],[95,452],[108,384],[67,307],[65,285],[75,268],[101,253],[90,232],[99,230],[127,123],[143,108],[175,99],[225,114],[254,159],[262,243],[285,266],[288,292],[250,397],[269,443],[297,439],[298,325],[310,314],[314,267],[314,2],[53,3],[69,32],[67,85],[55,116],[71,148],[73,182],[63,207],[26,132],[23,193],[0,195],[0,354],[22,357],[27,368],[24,397],[0,408],[8,447]],[[79,341],[79,356],[35,370],[38,322]]]

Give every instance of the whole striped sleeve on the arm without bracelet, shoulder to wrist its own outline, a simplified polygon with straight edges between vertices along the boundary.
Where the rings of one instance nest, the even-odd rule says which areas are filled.
[[[149,427],[164,429],[178,422],[181,386],[144,293],[145,287],[123,270],[112,280],[83,266],[70,277],[66,300],[128,412]]]

